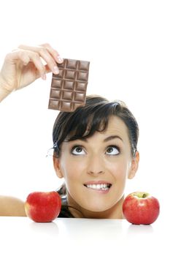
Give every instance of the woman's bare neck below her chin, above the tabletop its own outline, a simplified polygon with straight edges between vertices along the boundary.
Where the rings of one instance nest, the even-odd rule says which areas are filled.
[[[69,211],[71,211],[72,215],[75,218],[88,218],[88,219],[123,219],[123,197],[120,198],[120,200],[115,204],[115,206],[112,206],[112,208],[109,208],[106,211],[89,211],[85,208],[82,208],[81,206],[78,206],[76,202],[74,202],[73,198],[68,194],[68,205],[72,206],[74,208],[69,208]]]

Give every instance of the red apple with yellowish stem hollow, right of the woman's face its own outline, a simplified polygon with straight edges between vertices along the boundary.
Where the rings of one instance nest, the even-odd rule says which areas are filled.
[[[133,192],[123,202],[124,217],[132,224],[149,225],[155,222],[159,212],[158,199],[147,192]]]

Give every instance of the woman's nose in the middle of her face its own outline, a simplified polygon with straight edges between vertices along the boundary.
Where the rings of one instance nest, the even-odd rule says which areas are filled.
[[[87,173],[93,176],[105,173],[101,157],[91,156],[88,161]]]

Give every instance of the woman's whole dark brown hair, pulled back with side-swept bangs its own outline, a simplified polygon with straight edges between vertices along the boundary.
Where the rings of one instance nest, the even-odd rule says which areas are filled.
[[[58,114],[53,127],[55,157],[60,157],[63,141],[89,138],[96,131],[102,132],[107,129],[110,116],[117,116],[125,123],[131,144],[131,154],[135,156],[139,138],[139,127],[131,111],[128,110],[122,101],[109,102],[104,97],[90,95],[86,98],[84,107],[77,108],[72,113],[60,112]],[[58,193],[61,197],[66,197],[65,184],[58,189]],[[66,211],[65,206],[63,208]]]

